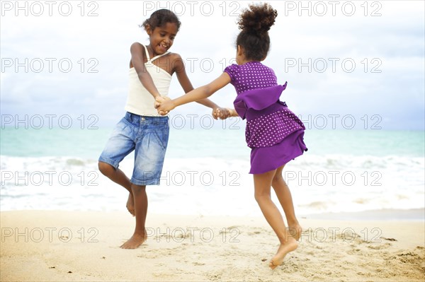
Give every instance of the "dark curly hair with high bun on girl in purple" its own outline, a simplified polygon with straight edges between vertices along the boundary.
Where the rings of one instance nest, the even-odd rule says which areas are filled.
[[[239,29],[236,45],[244,48],[246,59],[255,61],[263,60],[270,48],[268,30],[274,25],[278,11],[270,4],[251,4],[239,16]]]

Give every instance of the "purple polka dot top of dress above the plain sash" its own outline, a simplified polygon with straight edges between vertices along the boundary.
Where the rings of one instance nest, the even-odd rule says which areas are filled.
[[[225,72],[230,76],[230,83],[239,95],[247,90],[267,88],[278,85],[278,78],[273,69],[264,66],[259,61],[249,61],[246,64],[232,64]]]

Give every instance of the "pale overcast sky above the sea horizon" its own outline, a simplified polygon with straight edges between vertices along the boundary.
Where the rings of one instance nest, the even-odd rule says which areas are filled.
[[[424,1],[268,1],[278,11],[263,64],[302,119],[382,129],[424,129]],[[181,20],[171,52],[193,86],[235,55],[237,15],[251,1],[1,1],[1,116],[123,117],[132,42],[158,8]],[[174,76],[170,96],[183,94]],[[226,107],[232,86],[212,95]],[[207,114],[193,104],[174,114]],[[325,119],[324,119],[325,118]],[[347,119],[348,118],[348,119]],[[367,122],[367,125],[365,121]]]

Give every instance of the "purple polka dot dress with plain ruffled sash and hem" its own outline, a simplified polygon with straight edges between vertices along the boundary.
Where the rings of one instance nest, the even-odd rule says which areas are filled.
[[[305,126],[280,101],[287,83],[278,85],[273,69],[250,61],[227,66],[225,72],[237,92],[234,109],[246,119],[246,144],[251,148],[249,173],[276,170],[307,151]]]

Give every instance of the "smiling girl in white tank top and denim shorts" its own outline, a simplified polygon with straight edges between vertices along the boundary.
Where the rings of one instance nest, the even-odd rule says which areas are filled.
[[[174,73],[185,93],[193,90],[180,55],[169,52],[180,28],[176,15],[166,9],[158,10],[145,20],[143,26],[149,35],[149,45],[136,42],[130,47],[127,112],[115,127],[98,163],[103,175],[129,192],[127,208],[136,218],[136,227],[130,240],[121,245],[123,249],[135,249],[147,240],[145,188],[146,185],[159,184],[162,173],[169,118],[157,113],[155,99],[167,99]],[[200,104],[210,107],[212,113],[219,108],[208,99],[200,101]],[[118,165],[132,151],[135,151],[135,167],[129,179]]]

